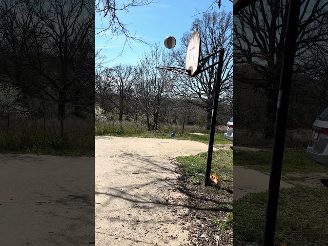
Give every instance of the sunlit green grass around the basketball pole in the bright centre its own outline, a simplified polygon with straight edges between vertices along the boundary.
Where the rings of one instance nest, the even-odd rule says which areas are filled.
[[[181,171],[189,181],[195,183],[205,180],[207,153],[198,155],[181,156],[177,158]],[[233,151],[213,151],[211,174],[216,173],[220,180],[232,182],[233,180]]]

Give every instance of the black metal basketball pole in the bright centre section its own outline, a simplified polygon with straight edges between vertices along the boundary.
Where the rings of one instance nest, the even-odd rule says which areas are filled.
[[[205,186],[208,186],[210,183],[211,175],[211,166],[212,166],[212,156],[213,156],[213,145],[214,145],[214,136],[215,136],[215,125],[216,125],[216,115],[217,115],[217,105],[219,102],[220,95],[220,85],[222,77],[222,68],[223,68],[223,58],[224,58],[224,49],[221,49],[219,52],[219,64],[216,71],[215,78],[215,92],[213,98],[213,109],[212,109],[212,119],[211,119],[211,130],[210,130],[210,139],[209,139],[209,150],[207,155],[207,165],[206,165],[206,174],[205,174]]]

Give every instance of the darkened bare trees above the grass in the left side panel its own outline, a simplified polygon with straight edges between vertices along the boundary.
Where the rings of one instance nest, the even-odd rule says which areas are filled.
[[[66,116],[93,120],[94,3],[2,1],[0,16],[1,132],[57,118],[63,136]]]

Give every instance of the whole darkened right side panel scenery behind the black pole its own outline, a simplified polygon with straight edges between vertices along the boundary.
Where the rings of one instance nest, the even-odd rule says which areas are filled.
[[[234,11],[234,245],[262,245],[290,1]],[[274,245],[328,241],[327,10],[327,1],[301,4]]]

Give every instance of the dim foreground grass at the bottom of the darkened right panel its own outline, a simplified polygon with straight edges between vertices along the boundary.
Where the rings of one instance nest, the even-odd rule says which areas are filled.
[[[267,192],[234,202],[234,243],[262,243]],[[280,191],[276,245],[318,246],[328,242],[328,188],[296,186]]]

